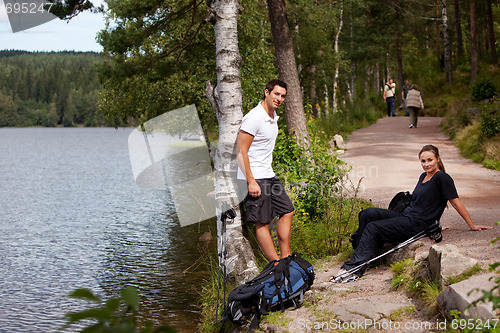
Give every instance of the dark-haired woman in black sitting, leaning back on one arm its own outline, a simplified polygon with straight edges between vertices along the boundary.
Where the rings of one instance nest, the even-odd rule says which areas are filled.
[[[400,243],[439,221],[448,201],[471,230],[491,229],[489,226],[474,224],[458,198],[455,183],[445,172],[439,150],[435,146],[424,146],[418,157],[425,172],[420,175],[413,190],[410,206],[402,213],[382,208],[361,211],[358,230],[351,237],[354,254],[344,263],[338,274],[330,279],[331,282],[345,283],[360,278],[366,266],[350,276],[346,273],[374,258],[384,243]]]

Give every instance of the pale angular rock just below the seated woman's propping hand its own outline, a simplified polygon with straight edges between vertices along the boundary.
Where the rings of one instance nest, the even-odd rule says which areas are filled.
[[[443,288],[450,277],[460,276],[477,265],[477,260],[464,256],[452,244],[433,245],[429,250],[429,268]]]

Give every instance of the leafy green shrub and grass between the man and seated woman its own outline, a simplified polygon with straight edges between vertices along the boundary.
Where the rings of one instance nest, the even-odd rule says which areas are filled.
[[[356,228],[358,212],[367,204],[355,195],[347,197],[343,184],[345,165],[331,154],[328,142],[318,136],[311,134],[311,149],[306,152],[280,132],[274,170],[295,206],[292,250],[323,258],[343,249],[347,236]]]

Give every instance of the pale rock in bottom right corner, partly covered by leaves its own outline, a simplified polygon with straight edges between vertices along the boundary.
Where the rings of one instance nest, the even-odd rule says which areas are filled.
[[[474,301],[483,295],[481,291],[474,291],[474,289],[491,290],[495,283],[493,280],[490,281],[490,278],[494,277],[493,273],[476,275],[468,280],[448,286],[437,298],[441,312],[449,316],[451,310],[458,310],[464,319],[481,318],[488,320],[496,318],[491,302],[480,302],[477,306],[472,305]]]

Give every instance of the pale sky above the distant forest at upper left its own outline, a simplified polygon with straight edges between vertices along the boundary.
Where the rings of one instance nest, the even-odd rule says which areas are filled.
[[[103,1],[93,1],[99,5]],[[104,29],[102,14],[81,13],[69,23],[58,18],[31,29],[13,33],[4,1],[0,0],[0,50],[102,51],[96,41]]]

